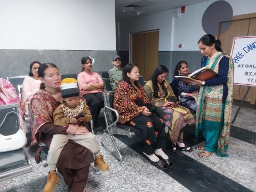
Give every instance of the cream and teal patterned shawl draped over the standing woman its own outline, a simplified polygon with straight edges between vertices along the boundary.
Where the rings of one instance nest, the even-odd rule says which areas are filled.
[[[224,117],[223,117],[221,133],[218,139],[217,155],[227,157],[228,141],[230,136],[231,110],[232,110],[232,101],[233,101],[234,63],[230,55],[223,52],[217,52],[211,57],[207,66],[210,67],[212,70],[214,70],[218,74],[219,62],[224,56],[229,58],[229,69],[228,69],[228,78],[227,78],[228,95],[225,102],[224,111],[222,114],[224,115]],[[205,97],[222,98],[222,94],[223,94],[223,85],[201,86],[199,91],[198,108],[196,113],[196,133],[197,134],[203,129],[203,127],[198,126],[198,123],[199,121],[202,121],[200,117],[202,114],[202,108],[203,108]]]

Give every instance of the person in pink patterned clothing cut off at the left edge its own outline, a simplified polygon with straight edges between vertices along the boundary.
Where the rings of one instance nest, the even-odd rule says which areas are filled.
[[[0,78],[0,106],[8,105],[12,103],[18,103],[20,114],[20,125],[23,130],[27,131],[25,123],[23,121],[23,112],[20,107],[19,96],[16,94],[14,86],[4,78]]]

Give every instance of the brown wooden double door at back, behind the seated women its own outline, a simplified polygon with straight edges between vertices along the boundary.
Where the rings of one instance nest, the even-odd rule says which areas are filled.
[[[148,81],[158,63],[159,31],[132,35],[132,62],[136,63]]]

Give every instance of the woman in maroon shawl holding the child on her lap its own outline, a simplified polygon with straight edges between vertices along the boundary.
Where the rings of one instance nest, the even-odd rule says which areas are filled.
[[[52,135],[54,134],[86,134],[88,130],[77,124],[68,126],[56,126],[53,124],[53,111],[62,103],[61,76],[57,66],[53,63],[44,63],[38,68],[38,76],[45,89],[34,94],[30,101],[31,111],[34,117],[33,141],[31,149],[35,149],[39,143],[45,143],[50,148]],[[75,159],[75,161],[74,161]],[[58,159],[58,171],[68,185],[69,191],[85,191],[90,164],[94,162],[91,151],[74,141],[68,141],[61,151]],[[55,170],[50,170],[44,191],[53,191],[59,177]]]

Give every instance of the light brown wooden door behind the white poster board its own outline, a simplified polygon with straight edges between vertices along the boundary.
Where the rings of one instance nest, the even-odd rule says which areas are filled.
[[[229,53],[231,52],[231,47],[233,44],[234,37],[239,36],[252,36],[256,35],[256,14],[248,14],[246,15],[237,15],[233,18],[233,21],[225,21],[220,22],[219,31],[221,31],[221,27],[228,25],[230,22],[231,26],[224,33],[219,34],[218,38],[221,41],[221,47],[223,52]],[[244,94],[247,90],[247,86],[234,85],[234,99],[242,100]],[[255,104],[256,100],[256,87],[251,87],[245,101],[251,102]]]

